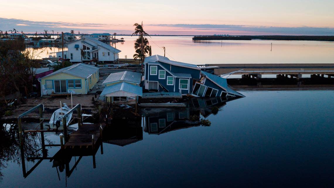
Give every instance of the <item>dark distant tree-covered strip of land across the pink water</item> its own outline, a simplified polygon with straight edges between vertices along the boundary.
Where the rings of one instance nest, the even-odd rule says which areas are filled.
[[[310,41],[334,41],[334,36],[314,35],[238,35],[238,36],[194,36],[193,40],[310,40]]]

